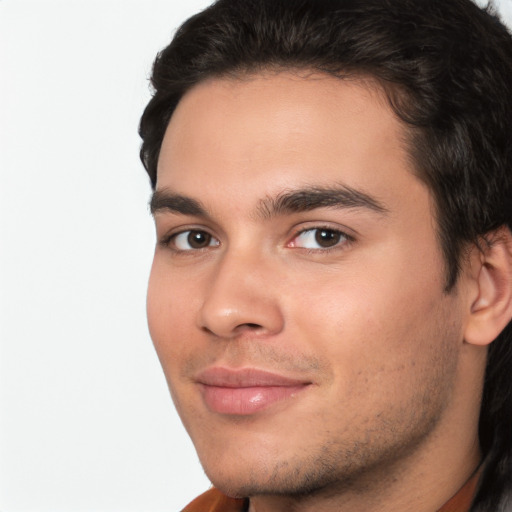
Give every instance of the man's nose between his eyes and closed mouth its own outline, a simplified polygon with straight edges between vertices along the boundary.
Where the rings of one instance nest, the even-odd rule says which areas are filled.
[[[226,254],[211,270],[199,312],[200,327],[223,339],[268,337],[284,326],[275,265],[262,257]]]

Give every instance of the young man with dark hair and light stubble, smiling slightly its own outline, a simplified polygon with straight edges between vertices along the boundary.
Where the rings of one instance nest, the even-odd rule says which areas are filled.
[[[506,511],[512,39],[469,0],[219,0],[141,120],[187,511]]]

